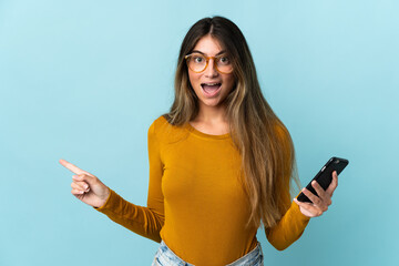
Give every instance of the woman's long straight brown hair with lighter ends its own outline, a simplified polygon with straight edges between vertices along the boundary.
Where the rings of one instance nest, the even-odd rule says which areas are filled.
[[[236,24],[223,17],[197,21],[185,35],[177,60],[175,99],[164,117],[184,125],[198,113],[198,100],[184,57],[211,34],[224,44],[234,65],[235,86],[225,99],[232,140],[242,156],[242,184],[253,223],[274,226],[290,204],[291,182],[299,187],[290,135],[262,94],[247,42]]]

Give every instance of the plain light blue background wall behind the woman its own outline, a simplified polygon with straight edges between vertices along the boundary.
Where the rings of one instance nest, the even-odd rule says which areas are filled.
[[[0,1],[0,265],[150,265],[158,244],[70,193],[65,158],[146,204],[150,124],[173,100],[181,42],[224,16],[244,32],[306,184],[349,158],[332,205],[265,265],[399,265],[399,4]]]

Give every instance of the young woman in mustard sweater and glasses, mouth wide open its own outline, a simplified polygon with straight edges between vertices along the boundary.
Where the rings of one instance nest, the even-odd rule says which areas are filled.
[[[331,204],[337,175],[313,203],[291,202],[294,145],[264,99],[254,61],[232,21],[205,18],[183,40],[168,113],[149,130],[147,207],[94,175],[74,172],[72,194],[134,233],[161,242],[153,265],[263,265],[256,238],[282,250]]]

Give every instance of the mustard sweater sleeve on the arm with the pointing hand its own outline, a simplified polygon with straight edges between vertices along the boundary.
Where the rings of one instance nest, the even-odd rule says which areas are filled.
[[[161,190],[163,163],[160,155],[160,143],[155,134],[155,122],[149,129],[147,145],[150,161],[147,207],[132,204],[110,190],[110,196],[105,204],[95,209],[127,229],[160,243],[160,231],[164,224],[164,204]]]

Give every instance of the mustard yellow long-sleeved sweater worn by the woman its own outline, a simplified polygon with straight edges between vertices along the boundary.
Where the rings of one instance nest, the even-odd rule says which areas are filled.
[[[177,256],[197,266],[226,265],[255,248],[257,228],[245,228],[249,207],[238,182],[241,157],[229,134],[205,134],[188,123],[172,126],[160,116],[149,129],[149,158],[147,207],[111,190],[99,212],[139,235],[162,238]],[[266,236],[284,249],[308,222],[290,203]]]

